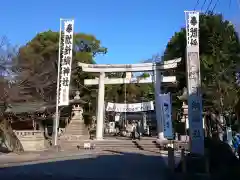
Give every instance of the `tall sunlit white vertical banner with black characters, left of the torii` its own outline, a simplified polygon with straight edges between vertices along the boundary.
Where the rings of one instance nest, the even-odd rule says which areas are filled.
[[[60,59],[60,74],[59,74],[59,106],[69,105],[69,86],[71,80],[71,66],[72,66],[72,48],[73,48],[73,28],[74,20],[63,20],[63,47],[62,59]],[[60,32],[61,33],[61,32]]]

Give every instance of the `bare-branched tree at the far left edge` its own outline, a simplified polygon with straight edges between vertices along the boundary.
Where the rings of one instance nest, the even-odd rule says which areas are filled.
[[[4,112],[7,103],[12,99],[19,99],[17,96],[17,86],[11,85],[13,73],[11,71],[12,61],[16,57],[13,48],[6,37],[0,39],[0,150],[4,146],[8,151],[23,151],[23,146],[11,128],[9,119]],[[4,146],[3,146],[4,145]]]

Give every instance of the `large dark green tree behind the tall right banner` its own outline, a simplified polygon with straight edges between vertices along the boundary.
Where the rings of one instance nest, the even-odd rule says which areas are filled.
[[[200,15],[200,63],[205,107],[211,106],[218,111],[233,110],[238,99],[235,73],[240,62],[239,52],[238,35],[229,21],[221,14]],[[163,55],[163,60],[182,57],[176,69],[178,92],[186,87],[185,54],[186,30],[182,28],[168,42]]]

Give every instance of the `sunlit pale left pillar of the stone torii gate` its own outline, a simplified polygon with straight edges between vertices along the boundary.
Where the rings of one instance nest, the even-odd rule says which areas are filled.
[[[98,106],[97,106],[97,127],[96,127],[96,139],[103,139],[103,113],[104,113],[104,78],[105,73],[101,72],[99,76],[99,84],[98,84]]]

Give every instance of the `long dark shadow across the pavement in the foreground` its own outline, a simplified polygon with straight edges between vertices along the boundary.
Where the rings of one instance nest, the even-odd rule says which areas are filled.
[[[118,152],[119,153],[119,152]],[[93,154],[94,156],[94,154]],[[1,179],[167,179],[164,157],[121,152],[0,169]]]

